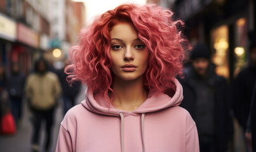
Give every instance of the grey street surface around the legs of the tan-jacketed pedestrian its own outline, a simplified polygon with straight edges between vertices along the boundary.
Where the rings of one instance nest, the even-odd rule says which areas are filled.
[[[80,101],[84,99],[84,89],[85,87],[81,87],[79,95],[77,96],[76,103],[79,104]],[[0,135],[0,149],[2,152],[29,152],[30,151],[30,136],[32,134],[32,125],[30,123],[30,112],[27,108],[27,104],[24,103],[24,115],[20,124],[18,124],[17,133],[15,135],[3,136]],[[53,127],[52,134],[52,146],[51,151],[55,151],[55,146],[58,138],[58,130],[60,127],[60,122],[62,121],[62,102],[60,101],[60,105],[55,111],[55,123]],[[44,127],[44,126],[43,126]],[[44,129],[42,129],[44,131]],[[41,132],[41,147],[43,145],[43,132]],[[42,151],[42,150],[41,150]],[[51,152],[50,151],[50,152]]]

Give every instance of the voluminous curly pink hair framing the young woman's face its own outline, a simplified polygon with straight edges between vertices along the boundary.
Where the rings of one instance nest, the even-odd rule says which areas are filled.
[[[114,25],[133,23],[138,37],[149,49],[149,65],[144,73],[145,88],[156,92],[175,92],[174,79],[182,75],[185,51],[190,49],[187,39],[178,27],[184,23],[172,20],[173,12],[155,5],[123,4],[99,16],[80,32],[80,44],[71,48],[72,64],[65,72],[69,82],[81,80],[93,92],[108,96],[112,89],[113,73],[110,56]]]

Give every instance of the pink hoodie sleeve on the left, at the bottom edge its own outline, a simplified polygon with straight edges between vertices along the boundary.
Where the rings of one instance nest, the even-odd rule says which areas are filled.
[[[69,132],[60,125],[60,132],[58,133],[58,141],[56,152],[72,152],[72,140]]]

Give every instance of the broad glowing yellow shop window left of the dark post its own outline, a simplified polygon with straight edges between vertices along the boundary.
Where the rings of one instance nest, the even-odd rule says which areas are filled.
[[[216,65],[216,73],[229,79],[229,39],[227,25],[222,25],[212,30],[212,49],[214,49],[212,61]]]

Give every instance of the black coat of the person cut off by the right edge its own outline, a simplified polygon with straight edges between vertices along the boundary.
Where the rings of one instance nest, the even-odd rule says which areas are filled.
[[[232,84],[234,115],[244,131],[246,130],[255,80],[256,67],[248,66],[239,72]]]

